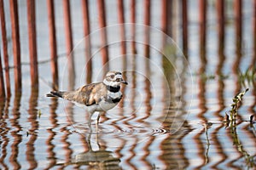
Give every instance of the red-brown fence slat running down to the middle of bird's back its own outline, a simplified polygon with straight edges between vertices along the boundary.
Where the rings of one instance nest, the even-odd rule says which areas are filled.
[[[90,59],[90,15],[88,0],[81,0],[82,14],[84,20],[84,37],[85,37],[85,63],[86,63],[86,83],[91,82],[92,63]]]

